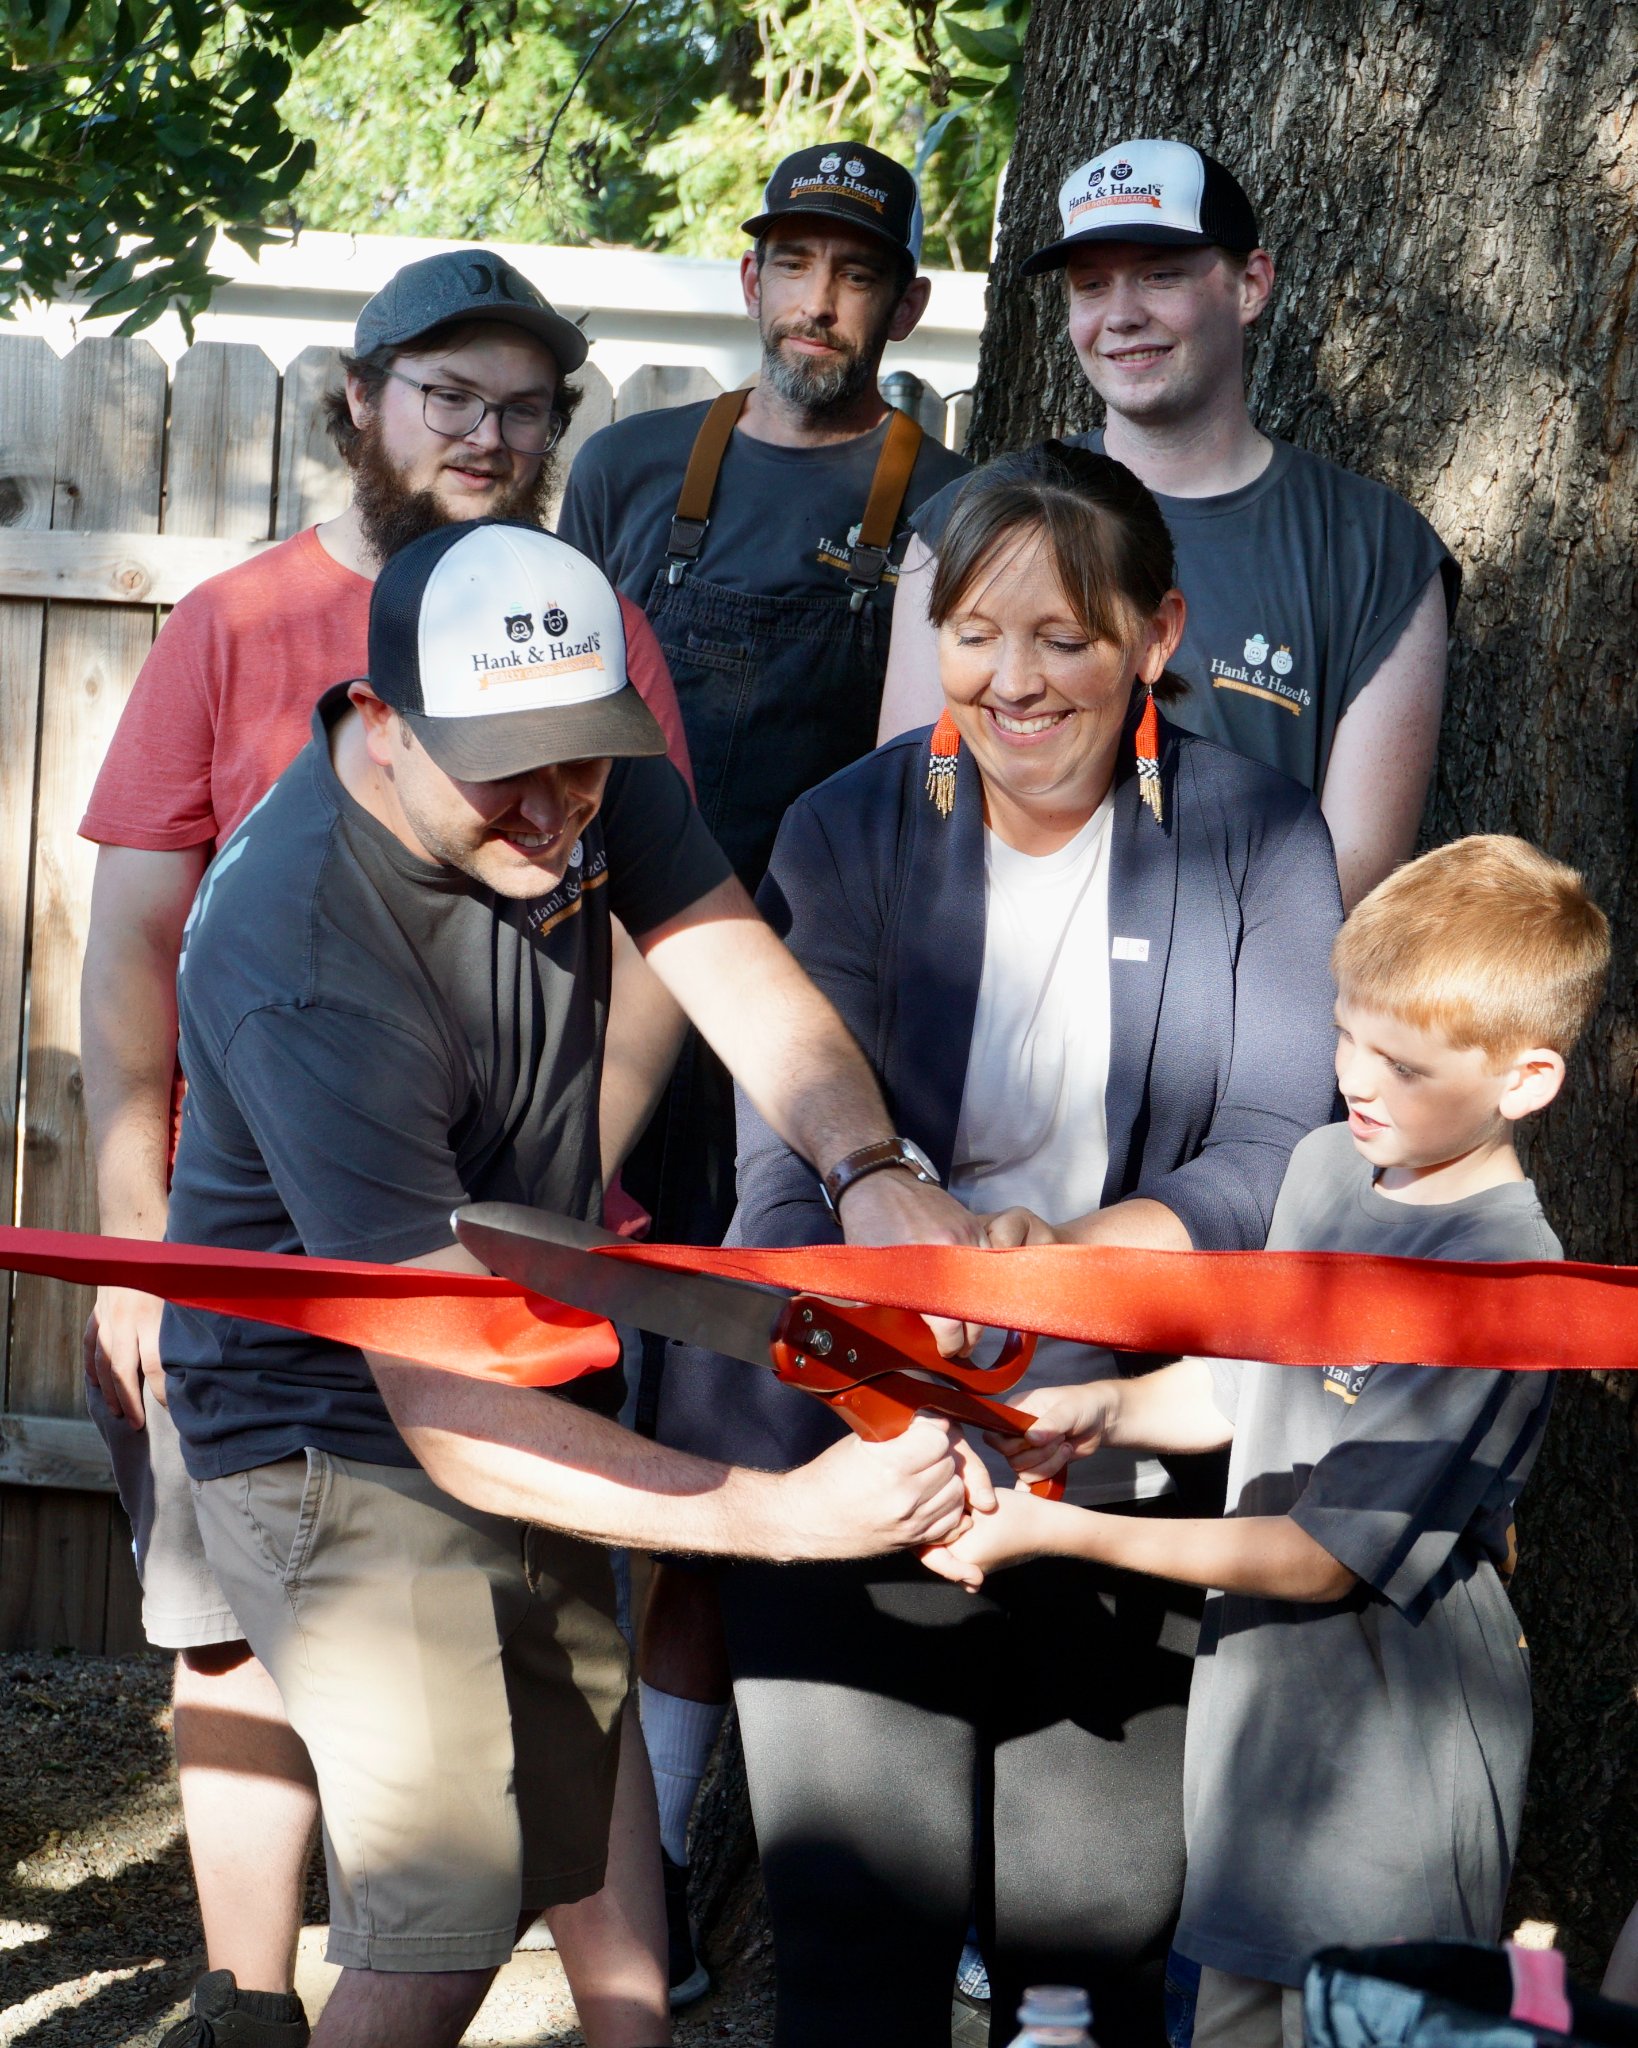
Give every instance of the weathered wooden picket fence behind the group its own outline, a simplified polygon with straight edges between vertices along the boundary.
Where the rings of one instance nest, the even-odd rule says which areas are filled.
[[[16,1223],[96,1227],[78,1016],[94,848],[76,834],[96,768],[164,608],[346,504],[319,420],[334,375],[328,348],[281,379],[258,348],[205,342],[168,381],[145,342],[59,358],[0,336],[0,1186]],[[717,393],[698,369],[575,381],[569,459],[608,420]],[[958,442],[964,401],[901,401]],[[141,1642],[80,1393],[88,1305],[0,1274],[0,1649]]]

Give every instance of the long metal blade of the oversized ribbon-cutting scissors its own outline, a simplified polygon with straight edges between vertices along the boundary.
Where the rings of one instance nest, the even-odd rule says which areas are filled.
[[[700,1343],[753,1366],[774,1362],[770,1341],[792,1298],[788,1288],[602,1260],[594,1255],[596,1245],[618,1245],[624,1239],[577,1217],[557,1217],[549,1208],[473,1202],[471,1208],[457,1208],[452,1221],[455,1235],[473,1257],[534,1294],[606,1315],[612,1323],[635,1323],[661,1337]]]

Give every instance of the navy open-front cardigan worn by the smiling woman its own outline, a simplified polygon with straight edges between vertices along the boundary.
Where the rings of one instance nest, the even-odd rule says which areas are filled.
[[[1157,825],[1138,799],[1130,725],[1110,838],[1104,1206],[1151,1196],[1198,1249],[1253,1249],[1292,1147],[1335,1102],[1331,838],[1298,782],[1165,721]],[[925,774],[923,729],[801,797],[758,901],[846,1018],[895,1128],[948,1178],[985,956],[983,791],[962,748],[946,819]],[[729,1243],[839,1235],[813,1167],[741,1094]],[[782,1468],[842,1430],[770,1374],[667,1350],[667,1444]]]

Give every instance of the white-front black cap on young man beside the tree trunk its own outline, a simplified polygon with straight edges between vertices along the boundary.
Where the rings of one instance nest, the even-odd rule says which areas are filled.
[[[1257,215],[1239,178],[1188,141],[1118,141],[1091,156],[1059,188],[1063,240],[1036,250],[1020,276],[1061,270],[1085,242],[1157,242],[1257,248]]]

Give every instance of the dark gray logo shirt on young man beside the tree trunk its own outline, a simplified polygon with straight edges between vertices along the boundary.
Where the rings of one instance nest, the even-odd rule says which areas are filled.
[[[1071,446],[1102,455],[1104,434],[1073,434]],[[956,489],[915,514],[934,553]],[[1435,573],[1456,610],[1462,578],[1443,541],[1384,483],[1288,440],[1239,492],[1155,500],[1190,606],[1171,659],[1190,688],[1167,717],[1319,797],[1341,715],[1394,651]]]

